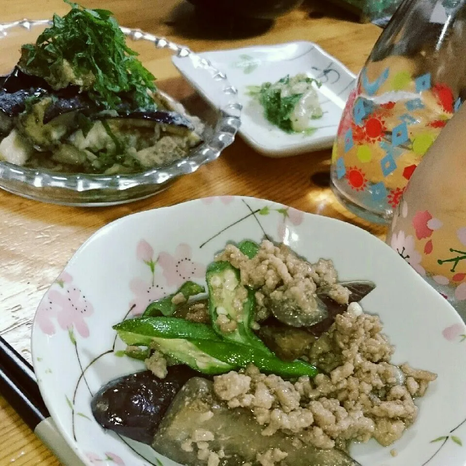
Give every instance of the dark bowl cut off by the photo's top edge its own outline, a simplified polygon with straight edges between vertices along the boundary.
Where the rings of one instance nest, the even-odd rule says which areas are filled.
[[[188,0],[196,7],[221,15],[274,19],[299,6],[304,0]]]

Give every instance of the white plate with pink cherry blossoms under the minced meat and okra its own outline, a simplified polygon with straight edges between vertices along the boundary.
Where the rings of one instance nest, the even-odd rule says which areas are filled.
[[[227,242],[263,238],[283,241],[310,261],[333,259],[342,280],[373,280],[377,287],[362,305],[381,316],[394,361],[438,373],[405,436],[388,449],[373,441],[354,445],[351,455],[363,466],[465,466],[466,372],[457,368],[466,366],[466,327],[454,309],[364,230],[242,197],[193,200],[116,220],[83,244],[45,294],[33,323],[34,370],[55,424],[84,465],[176,465],[104,432],[92,417],[90,399],[102,384],[144,367],[124,356],[112,326],[185,279],[205,284],[205,267]],[[397,241],[411,248],[406,235]],[[398,456],[391,457],[391,448]]]

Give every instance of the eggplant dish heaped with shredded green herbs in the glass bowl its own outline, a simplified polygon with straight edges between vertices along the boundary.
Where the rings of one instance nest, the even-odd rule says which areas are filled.
[[[188,155],[200,120],[157,89],[111,12],[67,3],[1,78],[0,160],[112,175]]]

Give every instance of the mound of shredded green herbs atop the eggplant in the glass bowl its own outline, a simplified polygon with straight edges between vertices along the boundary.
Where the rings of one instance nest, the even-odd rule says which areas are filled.
[[[119,94],[130,97],[135,108],[154,108],[148,90],[156,90],[155,78],[127,47],[112,12],[65,2],[71,11],[64,17],[53,15],[53,25],[35,45],[23,45],[19,67],[54,89],[80,85],[105,109],[117,108]]]

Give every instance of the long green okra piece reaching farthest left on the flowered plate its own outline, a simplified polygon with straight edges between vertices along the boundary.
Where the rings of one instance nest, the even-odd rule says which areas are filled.
[[[129,346],[150,346],[153,338],[220,340],[209,325],[177,317],[136,317],[123,320],[113,329]]]

